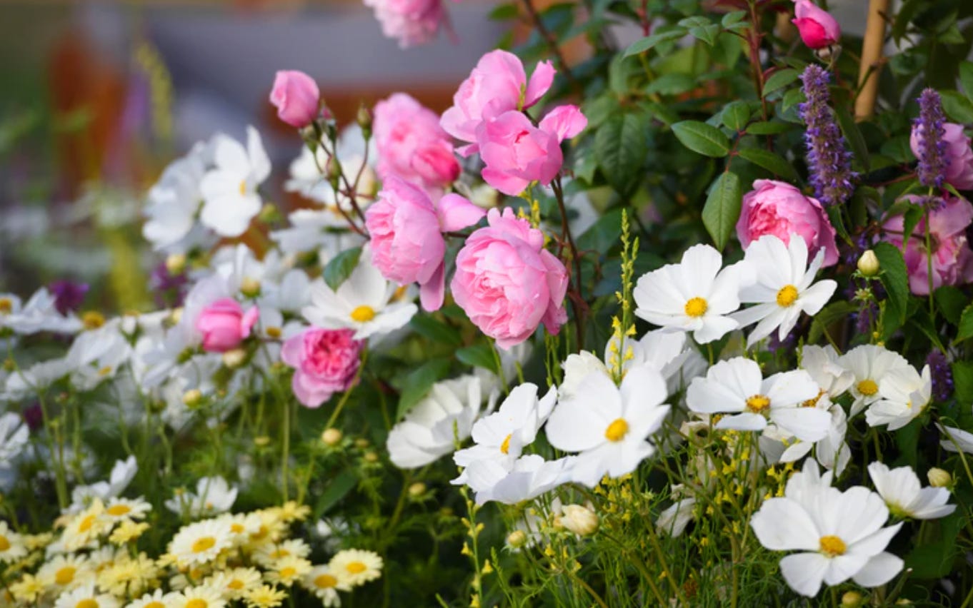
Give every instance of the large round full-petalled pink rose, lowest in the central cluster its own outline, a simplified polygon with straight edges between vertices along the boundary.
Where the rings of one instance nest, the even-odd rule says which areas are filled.
[[[450,288],[470,321],[502,349],[526,340],[541,322],[552,334],[567,321],[564,264],[544,249],[544,234],[512,209],[486,214],[489,227],[466,239]]]

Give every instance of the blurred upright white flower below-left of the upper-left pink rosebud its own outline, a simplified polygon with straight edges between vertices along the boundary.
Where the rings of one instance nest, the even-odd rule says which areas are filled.
[[[226,135],[213,139],[215,167],[199,183],[203,207],[199,220],[220,236],[239,236],[260,213],[257,187],[270,175],[270,159],[260,133],[247,127],[246,148]]]

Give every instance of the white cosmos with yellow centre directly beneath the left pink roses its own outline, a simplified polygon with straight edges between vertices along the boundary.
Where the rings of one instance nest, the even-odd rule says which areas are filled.
[[[366,247],[337,290],[323,280],[311,284],[311,304],[302,313],[313,325],[354,329],[355,340],[364,340],[405,326],[418,312],[413,302],[393,298],[396,289],[372,264],[372,253]]]

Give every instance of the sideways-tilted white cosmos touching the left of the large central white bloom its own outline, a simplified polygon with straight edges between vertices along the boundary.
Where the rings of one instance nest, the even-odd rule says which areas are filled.
[[[476,445],[458,450],[452,455],[456,466],[467,467],[478,460],[495,460],[510,470],[525,446],[537,437],[544,422],[551,415],[558,399],[557,388],[550,388],[543,398],[537,398],[537,385],[526,383],[510,391],[496,412],[473,425],[471,436]],[[466,471],[452,480],[453,485],[466,484]]]

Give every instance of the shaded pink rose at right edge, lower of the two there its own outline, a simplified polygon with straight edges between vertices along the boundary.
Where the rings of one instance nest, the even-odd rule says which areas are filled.
[[[919,197],[907,197],[918,203]],[[973,205],[963,198],[947,196],[942,208],[929,214],[929,241],[932,246],[932,287],[973,282],[973,252],[966,242],[966,226],[973,221]],[[884,223],[884,239],[902,248],[902,216]],[[929,294],[929,261],[925,249],[925,220],[912,232],[905,252],[909,288],[917,295]]]

